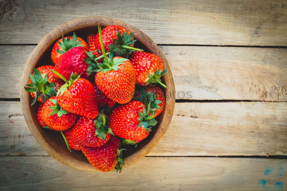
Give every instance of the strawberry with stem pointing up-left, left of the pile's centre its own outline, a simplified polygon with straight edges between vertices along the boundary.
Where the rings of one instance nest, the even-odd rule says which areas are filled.
[[[96,92],[90,81],[79,78],[77,73],[72,73],[69,81],[56,71],[53,73],[66,82],[57,92],[57,100],[64,110],[90,118],[98,116]]]

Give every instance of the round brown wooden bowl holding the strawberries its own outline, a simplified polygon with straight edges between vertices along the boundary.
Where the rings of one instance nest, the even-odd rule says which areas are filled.
[[[137,39],[135,47],[143,48],[150,53],[158,55],[164,61],[165,68],[168,68],[167,73],[162,79],[167,85],[166,91],[169,92],[166,98],[165,109],[156,118],[158,124],[152,127],[150,135],[139,143],[137,148],[129,147],[128,151],[123,152],[123,159],[125,161],[125,166],[123,167],[128,167],[143,158],[156,146],[170,124],[175,104],[174,82],[166,58],[156,43],[137,28],[125,22],[108,17],[83,17],[64,23],[49,32],[33,50],[25,65],[20,89],[22,111],[33,136],[49,155],[67,166],[92,172],[98,172],[99,170],[88,162],[83,153],[78,151],[72,151],[70,153],[60,132],[44,129],[38,124],[36,118],[38,106],[37,104],[31,106],[32,97],[24,90],[24,85],[29,83],[28,73],[32,72],[32,68],[38,68],[42,65],[53,65],[51,50],[54,43],[61,38],[62,34],[67,36],[72,35],[73,32],[75,32],[77,36],[85,40],[88,34],[98,33],[98,24],[100,24],[102,28],[109,25],[121,25],[130,31],[133,31],[134,37]]]

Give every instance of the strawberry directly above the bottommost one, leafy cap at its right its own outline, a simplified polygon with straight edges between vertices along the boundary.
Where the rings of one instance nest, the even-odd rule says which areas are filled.
[[[100,147],[110,139],[113,134],[106,125],[105,115],[99,113],[98,117],[92,118],[81,116],[71,130],[73,143],[85,147]]]

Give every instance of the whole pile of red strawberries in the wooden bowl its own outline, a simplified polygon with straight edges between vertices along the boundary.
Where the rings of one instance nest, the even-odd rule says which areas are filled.
[[[156,83],[166,87],[160,80],[166,69],[160,57],[133,47],[126,28],[98,31],[88,44],[75,33],[59,39],[51,52],[55,66],[33,68],[25,90],[32,104],[41,102],[39,124],[60,131],[70,151],[82,151],[101,171],[121,172],[121,144],[145,139],[164,109]]]

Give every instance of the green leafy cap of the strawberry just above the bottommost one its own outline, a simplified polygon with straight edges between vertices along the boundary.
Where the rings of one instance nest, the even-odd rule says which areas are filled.
[[[112,134],[111,128],[108,128],[108,117],[104,113],[99,113],[99,115],[95,118],[94,124],[96,125],[96,135],[99,139],[106,139],[106,134]]]

